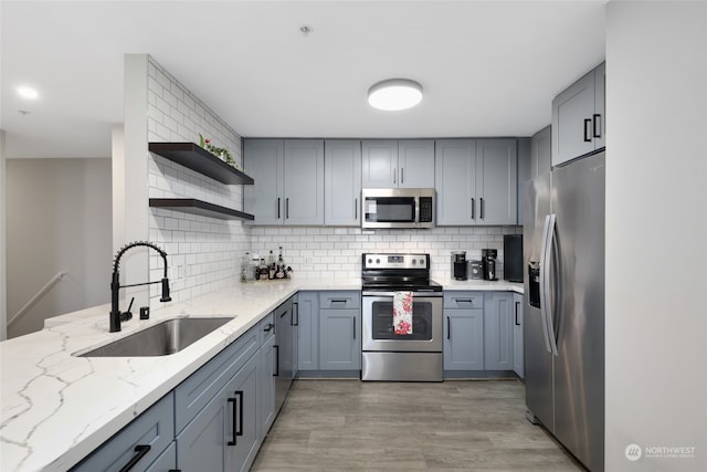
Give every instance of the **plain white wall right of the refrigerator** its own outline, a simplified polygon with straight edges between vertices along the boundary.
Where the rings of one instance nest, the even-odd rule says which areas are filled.
[[[707,3],[606,14],[606,470],[704,471]]]

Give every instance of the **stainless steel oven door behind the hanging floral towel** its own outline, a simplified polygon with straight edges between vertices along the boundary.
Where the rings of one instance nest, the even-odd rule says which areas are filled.
[[[412,334],[393,332],[393,294],[362,296],[362,349],[378,352],[442,352],[442,294],[412,296]]]

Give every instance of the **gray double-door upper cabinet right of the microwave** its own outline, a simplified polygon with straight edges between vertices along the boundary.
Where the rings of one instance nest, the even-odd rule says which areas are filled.
[[[439,225],[517,224],[516,139],[439,139]]]

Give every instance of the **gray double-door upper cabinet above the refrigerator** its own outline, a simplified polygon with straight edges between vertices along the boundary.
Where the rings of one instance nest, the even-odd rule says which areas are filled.
[[[600,64],[552,101],[552,165],[605,146],[605,64]]]

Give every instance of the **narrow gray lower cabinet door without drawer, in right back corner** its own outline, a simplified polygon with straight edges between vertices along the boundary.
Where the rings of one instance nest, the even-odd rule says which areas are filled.
[[[510,292],[484,294],[484,369],[514,368],[515,304]]]

